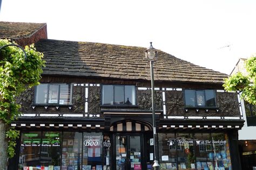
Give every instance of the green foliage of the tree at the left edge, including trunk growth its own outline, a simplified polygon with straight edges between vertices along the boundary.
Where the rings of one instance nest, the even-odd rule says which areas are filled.
[[[6,39],[0,39],[0,47],[11,44]],[[6,139],[8,141],[8,157],[14,156],[15,140],[19,136],[17,130],[8,128],[9,124],[19,116],[16,97],[25,89],[39,84],[43,73],[43,54],[36,51],[33,45],[26,46],[24,52],[16,46],[7,46],[0,51],[0,120],[5,123]],[[0,144],[1,146],[1,144]]]

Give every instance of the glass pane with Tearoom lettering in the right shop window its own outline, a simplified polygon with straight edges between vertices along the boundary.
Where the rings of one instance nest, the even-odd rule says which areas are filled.
[[[177,150],[178,168],[194,169],[196,160],[194,156],[194,139],[191,133],[177,133],[174,141],[176,146],[180,146],[181,150]]]

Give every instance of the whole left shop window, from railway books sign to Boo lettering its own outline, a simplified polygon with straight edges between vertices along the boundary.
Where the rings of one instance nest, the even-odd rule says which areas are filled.
[[[110,169],[108,150],[100,132],[23,132],[18,169]]]

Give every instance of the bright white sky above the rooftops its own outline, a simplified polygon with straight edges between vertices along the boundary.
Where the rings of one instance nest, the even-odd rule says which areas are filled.
[[[47,23],[49,39],[140,47],[152,41],[177,58],[230,74],[239,58],[256,53],[255,9],[254,0],[3,0],[0,20]]]

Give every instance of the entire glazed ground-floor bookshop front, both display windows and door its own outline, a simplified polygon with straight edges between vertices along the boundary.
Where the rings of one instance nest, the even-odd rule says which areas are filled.
[[[226,133],[158,133],[158,151],[160,169],[232,169]],[[26,131],[18,158],[19,170],[152,169],[153,146],[150,131]]]

